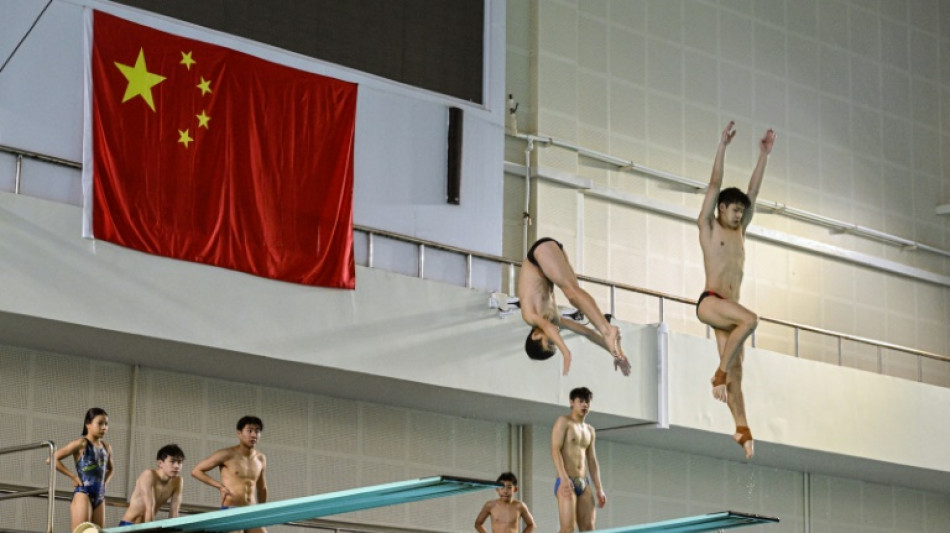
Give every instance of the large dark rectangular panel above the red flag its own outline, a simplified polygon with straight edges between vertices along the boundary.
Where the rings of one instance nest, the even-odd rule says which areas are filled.
[[[484,103],[485,0],[116,0]]]

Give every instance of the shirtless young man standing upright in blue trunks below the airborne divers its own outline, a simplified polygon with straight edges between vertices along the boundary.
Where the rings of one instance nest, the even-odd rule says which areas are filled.
[[[578,387],[571,391],[570,397],[571,413],[559,416],[551,431],[551,458],[558,476],[554,495],[560,533],[572,533],[575,524],[580,531],[593,531],[597,518],[595,494],[596,507],[603,508],[607,504],[594,450],[594,428],[584,422],[594,393],[587,387]]]

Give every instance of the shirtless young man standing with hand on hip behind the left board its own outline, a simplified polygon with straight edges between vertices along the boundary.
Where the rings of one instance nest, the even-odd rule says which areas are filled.
[[[264,423],[260,418],[242,417],[237,423],[238,444],[214,452],[191,471],[195,479],[221,492],[222,509],[267,501],[267,481],[264,479],[267,459],[254,449],[263,430]],[[220,482],[207,474],[214,468],[221,469]],[[266,533],[267,529],[259,527],[246,531]]]

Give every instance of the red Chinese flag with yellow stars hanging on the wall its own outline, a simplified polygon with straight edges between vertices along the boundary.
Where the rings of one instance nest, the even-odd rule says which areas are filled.
[[[95,238],[355,286],[355,84],[102,12],[91,51]]]

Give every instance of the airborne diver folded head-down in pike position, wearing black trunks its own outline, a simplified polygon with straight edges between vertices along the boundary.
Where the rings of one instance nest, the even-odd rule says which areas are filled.
[[[596,329],[561,317],[554,301],[555,285]],[[630,375],[630,361],[620,346],[620,328],[610,325],[594,298],[577,283],[577,275],[567,262],[567,255],[561,243],[545,237],[538,239],[531,246],[528,257],[521,263],[518,299],[521,318],[531,326],[525,341],[528,357],[545,360],[551,358],[557,350],[561,350],[562,373],[566,376],[571,369],[571,351],[561,338],[560,326],[564,326],[610,352],[614,357],[614,369],[619,368],[623,375]]]

